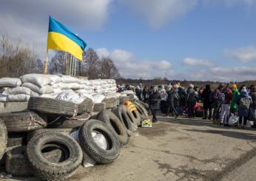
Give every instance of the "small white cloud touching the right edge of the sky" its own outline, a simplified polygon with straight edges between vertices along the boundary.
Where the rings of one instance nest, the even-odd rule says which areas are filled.
[[[244,47],[238,49],[229,49],[225,51],[226,55],[231,56],[232,58],[238,59],[244,63],[249,61],[256,61],[256,47]]]

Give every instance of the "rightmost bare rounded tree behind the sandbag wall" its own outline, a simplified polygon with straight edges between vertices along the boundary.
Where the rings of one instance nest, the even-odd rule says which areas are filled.
[[[100,78],[118,78],[120,77],[118,68],[110,58],[102,58],[99,66]]]

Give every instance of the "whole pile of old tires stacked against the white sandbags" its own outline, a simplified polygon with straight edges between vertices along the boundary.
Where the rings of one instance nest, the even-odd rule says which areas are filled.
[[[92,103],[75,105],[63,100],[30,98],[27,112],[0,114],[0,159],[13,176],[66,180],[83,161],[83,152],[95,163],[113,163],[121,147],[138,129],[146,108],[127,102],[90,117]],[[79,142],[70,134],[78,131]],[[107,148],[95,142],[102,134]]]

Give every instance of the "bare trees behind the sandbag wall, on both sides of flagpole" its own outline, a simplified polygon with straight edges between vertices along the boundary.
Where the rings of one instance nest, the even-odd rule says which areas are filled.
[[[49,74],[66,75],[67,53],[55,51],[48,62]],[[19,77],[28,73],[42,73],[44,61],[38,58],[33,46],[25,44],[21,39],[12,39],[7,35],[0,36],[0,78]],[[118,78],[118,68],[112,59],[99,58],[94,49],[83,53],[83,61],[77,61],[76,75],[95,78]]]

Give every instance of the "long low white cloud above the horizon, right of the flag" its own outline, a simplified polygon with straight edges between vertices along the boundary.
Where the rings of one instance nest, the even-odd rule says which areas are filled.
[[[165,60],[138,60],[124,49],[109,51],[106,48],[96,49],[99,57],[110,57],[115,65],[118,66],[121,76],[124,78],[172,78],[174,71],[172,64]]]

